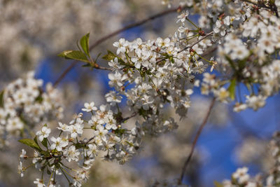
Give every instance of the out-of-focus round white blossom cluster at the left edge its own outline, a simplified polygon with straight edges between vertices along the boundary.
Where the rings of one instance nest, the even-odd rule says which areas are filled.
[[[63,117],[62,97],[58,90],[34,78],[29,72],[18,78],[1,92],[0,135],[1,146],[13,136],[25,137],[38,123]]]

